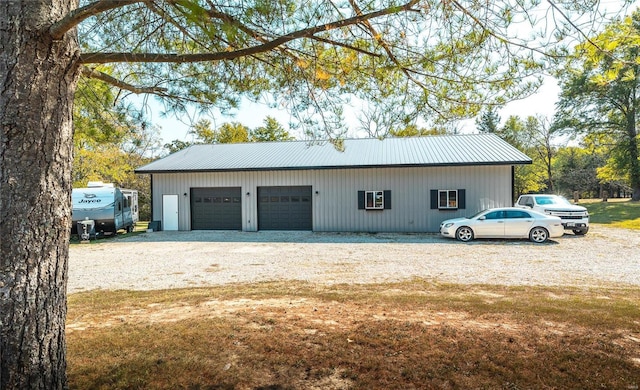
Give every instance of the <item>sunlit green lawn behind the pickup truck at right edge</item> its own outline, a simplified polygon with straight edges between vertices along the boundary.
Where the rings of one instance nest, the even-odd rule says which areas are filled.
[[[579,204],[589,210],[589,221],[612,227],[640,229],[640,202],[629,199],[582,199]]]

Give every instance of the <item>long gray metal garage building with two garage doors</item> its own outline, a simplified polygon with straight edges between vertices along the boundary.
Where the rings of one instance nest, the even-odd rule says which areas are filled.
[[[531,159],[492,134],[195,145],[140,167],[163,230],[435,232],[513,202]]]

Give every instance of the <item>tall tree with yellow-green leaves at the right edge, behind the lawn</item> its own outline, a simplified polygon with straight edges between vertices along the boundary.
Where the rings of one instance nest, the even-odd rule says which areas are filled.
[[[556,127],[577,134],[602,134],[616,143],[615,163],[640,200],[637,121],[640,115],[640,12],[609,24],[578,45],[557,75],[562,92]]]

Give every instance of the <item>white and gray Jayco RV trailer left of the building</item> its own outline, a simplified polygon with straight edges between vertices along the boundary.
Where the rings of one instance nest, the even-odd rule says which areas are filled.
[[[132,210],[135,210],[136,219],[138,214],[137,191],[122,190],[111,183],[89,182],[86,188],[74,188],[71,198],[71,234],[81,234],[79,229],[84,228],[86,221],[94,221],[92,231],[88,232],[94,237],[96,234],[116,234],[120,229],[133,231]]]

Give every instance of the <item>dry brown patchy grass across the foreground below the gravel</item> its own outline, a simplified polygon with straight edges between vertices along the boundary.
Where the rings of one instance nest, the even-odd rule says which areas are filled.
[[[257,283],[69,297],[72,389],[637,389],[640,289]]]

